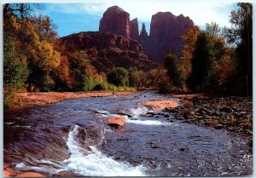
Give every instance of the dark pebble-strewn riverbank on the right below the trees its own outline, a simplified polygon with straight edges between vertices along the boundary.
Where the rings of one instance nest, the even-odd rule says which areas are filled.
[[[214,129],[226,129],[251,137],[253,145],[253,99],[246,97],[188,97],[177,95],[183,105],[166,108],[175,119]],[[185,100],[183,100],[185,99]],[[172,119],[169,119],[172,122]]]

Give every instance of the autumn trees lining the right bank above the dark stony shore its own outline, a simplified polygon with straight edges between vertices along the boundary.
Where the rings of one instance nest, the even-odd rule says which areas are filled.
[[[237,3],[231,27],[216,22],[197,26],[183,35],[179,59],[167,55],[165,66],[172,88],[209,95],[253,95],[252,4]]]

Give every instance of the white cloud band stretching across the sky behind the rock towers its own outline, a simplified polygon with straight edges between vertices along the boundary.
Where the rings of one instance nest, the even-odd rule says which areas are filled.
[[[242,2],[243,0],[240,0]],[[69,1],[62,0],[61,3]],[[52,4],[49,11],[56,11],[67,14],[102,14],[113,5],[118,5],[131,16],[131,19],[138,18],[140,21],[149,22],[151,16],[157,12],[172,12],[172,14],[189,16],[197,26],[204,26],[206,23],[216,21],[219,26],[230,26],[230,10],[234,0],[85,0],[83,2],[70,4]]]

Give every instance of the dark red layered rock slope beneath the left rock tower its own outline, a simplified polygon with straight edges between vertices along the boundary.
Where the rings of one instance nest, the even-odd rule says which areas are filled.
[[[108,72],[113,67],[133,67],[148,70],[155,66],[143,53],[136,40],[108,32],[80,32],[61,38],[67,50],[85,50],[91,64],[98,72]]]

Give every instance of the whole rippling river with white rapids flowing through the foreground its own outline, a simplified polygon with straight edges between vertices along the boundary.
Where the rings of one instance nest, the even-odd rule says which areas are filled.
[[[93,97],[5,115],[4,163],[49,176],[253,174],[247,137],[167,119],[142,104],[166,99],[177,100],[153,93]],[[109,127],[108,116],[118,115],[126,116],[125,127]]]

